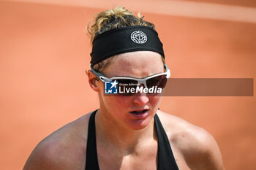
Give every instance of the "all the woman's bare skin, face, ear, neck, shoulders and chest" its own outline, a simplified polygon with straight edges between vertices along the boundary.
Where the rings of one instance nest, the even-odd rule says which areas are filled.
[[[102,73],[106,77],[147,77],[163,72],[162,68],[158,53],[132,52],[115,58]],[[89,85],[99,94],[100,109],[95,122],[101,170],[157,169],[157,135],[153,119],[156,113],[165,128],[180,170],[225,170],[219,147],[211,134],[157,110],[160,96],[139,93],[128,97],[105,97],[103,83],[96,81],[91,72]],[[129,115],[129,112],[138,109],[148,109],[148,115],[140,119]],[[84,170],[90,115],[80,117],[42,140],[23,170]]]

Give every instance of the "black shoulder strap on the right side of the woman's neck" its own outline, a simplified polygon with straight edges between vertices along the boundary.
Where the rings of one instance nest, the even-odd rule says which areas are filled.
[[[178,170],[173,151],[170,147],[169,139],[165,134],[165,129],[157,115],[154,116],[154,124],[158,138],[158,165],[157,170]]]

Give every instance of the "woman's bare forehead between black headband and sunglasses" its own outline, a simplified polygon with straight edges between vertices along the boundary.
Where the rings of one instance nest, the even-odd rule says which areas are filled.
[[[162,56],[151,51],[138,51],[116,55],[104,69],[107,77],[148,77],[164,71]]]

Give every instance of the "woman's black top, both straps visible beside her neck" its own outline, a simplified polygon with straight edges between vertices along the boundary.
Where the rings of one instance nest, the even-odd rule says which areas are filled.
[[[95,134],[95,110],[89,119],[88,138],[86,147],[86,170],[99,170],[97,147],[96,147],[96,134]],[[170,148],[170,142],[162,127],[157,114],[154,116],[154,125],[157,131],[158,138],[158,165],[157,170],[178,170],[173,152]]]

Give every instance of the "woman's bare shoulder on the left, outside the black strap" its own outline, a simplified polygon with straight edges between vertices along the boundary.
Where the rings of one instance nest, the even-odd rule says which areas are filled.
[[[23,170],[84,169],[90,115],[64,125],[39,142]]]

